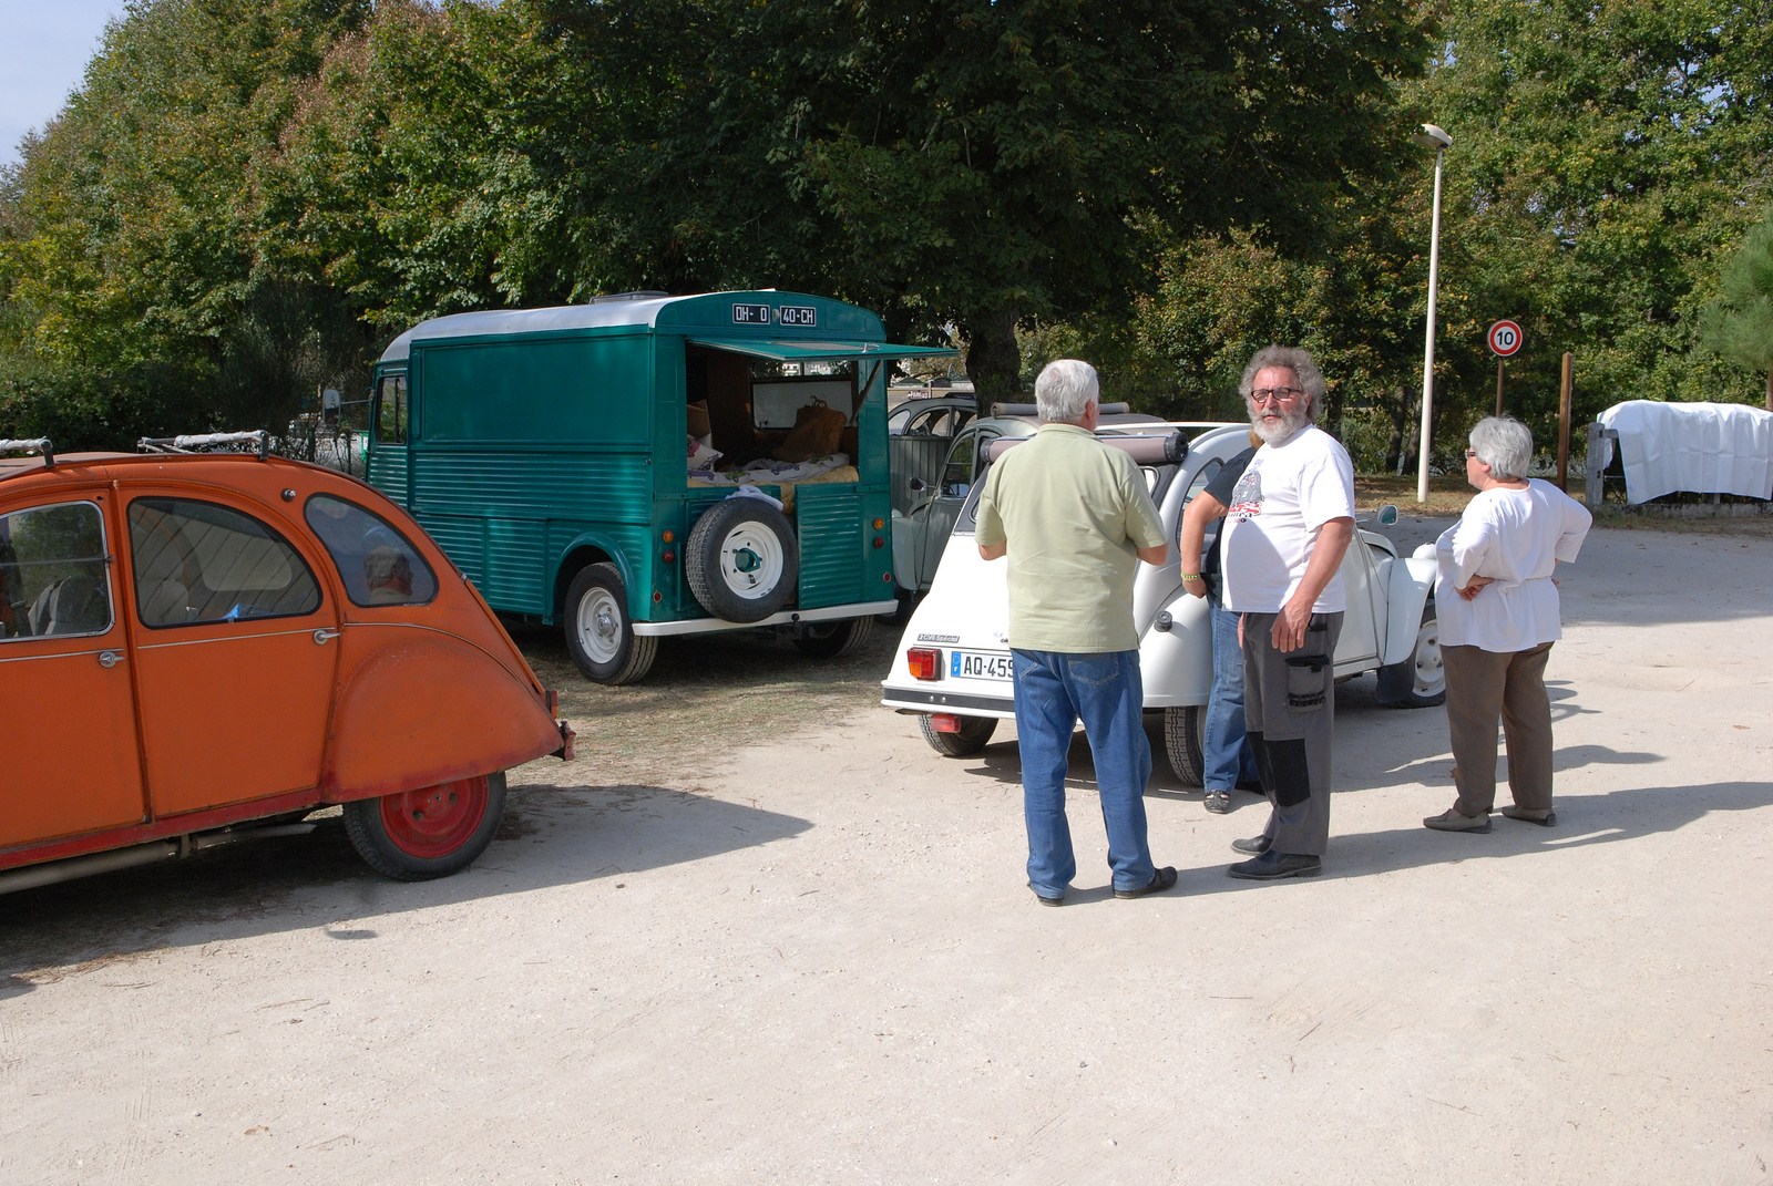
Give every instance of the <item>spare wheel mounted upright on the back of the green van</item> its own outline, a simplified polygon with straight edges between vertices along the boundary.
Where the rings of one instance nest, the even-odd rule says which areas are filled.
[[[716,502],[690,528],[684,574],[715,617],[761,622],[787,606],[800,581],[794,528],[762,498]]]

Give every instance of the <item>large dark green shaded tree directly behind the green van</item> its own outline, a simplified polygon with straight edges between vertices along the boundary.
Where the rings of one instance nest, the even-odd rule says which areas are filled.
[[[1018,326],[1131,310],[1144,222],[1308,239],[1371,151],[1371,98],[1424,50],[1402,4],[534,11],[590,129],[541,174],[613,230],[569,238],[626,246],[605,259],[658,287],[768,280],[881,308],[895,332],[954,324],[982,401],[1018,383]],[[683,48],[690,30],[722,51]],[[608,94],[647,96],[619,103],[626,151],[599,135]]]

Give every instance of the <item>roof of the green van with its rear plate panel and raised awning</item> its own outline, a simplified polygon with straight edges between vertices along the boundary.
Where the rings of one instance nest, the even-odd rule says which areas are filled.
[[[796,308],[803,316],[800,321],[782,324],[782,308]],[[855,355],[904,358],[956,353],[945,346],[886,344],[881,319],[860,305],[805,293],[750,289],[693,296],[637,293],[631,298],[599,298],[585,305],[449,314],[422,321],[401,333],[381,353],[381,362],[410,358],[413,342],[420,340],[551,335],[580,330],[665,330],[683,333],[706,346],[780,358],[844,358]],[[778,349],[769,349],[771,342]]]

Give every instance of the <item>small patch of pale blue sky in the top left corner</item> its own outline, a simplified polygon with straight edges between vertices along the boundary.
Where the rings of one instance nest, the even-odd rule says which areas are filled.
[[[0,0],[0,165],[18,163],[18,142],[43,131],[99,51],[105,21],[122,0]]]

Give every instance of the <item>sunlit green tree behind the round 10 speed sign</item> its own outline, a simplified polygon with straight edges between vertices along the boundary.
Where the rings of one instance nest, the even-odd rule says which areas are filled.
[[[1445,53],[1401,96],[1454,137],[1441,424],[1463,427],[1488,410],[1484,330],[1498,317],[1527,332],[1505,399],[1541,441],[1551,440],[1564,351],[1576,356],[1578,418],[1619,399],[1741,390],[1691,346],[1718,259],[1773,188],[1769,51],[1766,4],[1449,7]]]

